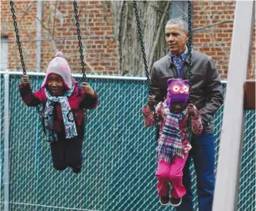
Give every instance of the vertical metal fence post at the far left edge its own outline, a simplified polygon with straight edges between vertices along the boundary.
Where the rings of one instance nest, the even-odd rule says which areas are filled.
[[[5,164],[4,164],[4,210],[9,211],[9,73],[5,71],[5,110],[4,110],[4,137],[5,137]]]

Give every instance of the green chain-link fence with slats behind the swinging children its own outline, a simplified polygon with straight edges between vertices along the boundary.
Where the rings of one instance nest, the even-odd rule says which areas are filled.
[[[42,77],[31,77],[35,91]],[[79,79],[78,79],[79,81]],[[89,111],[81,173],[56,171],[33,107],[26,107],[18,93],[20,76],[10,76],[10,210],[14,211],[155,211],[160,206],[156,190],[155,129],[143,124],[141,108],[148,86],[142,81],[89,79],[99,104]],[[225,89],[224,89],[225,90]],[[3,110],[1,75],[1,210],[3,210]],[[223,108],[214,117],[218,156]],[[247,111],[238,207],[255,209],[255,112]],[[216,162],[217,165],[217,162]],[[191,168],[193,168],[191,166]],[[196,193],[193,172],[194,196]],[[198,205],[194,199],[194,206]]]

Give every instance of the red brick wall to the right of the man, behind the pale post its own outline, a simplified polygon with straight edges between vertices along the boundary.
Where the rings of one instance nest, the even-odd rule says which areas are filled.
[[[193,1],[194,49],[216,61],[222,78],[228,74],[235,2]],[[211,26],[211,27],[205,27]],[[255,25],[250,77],[255,77]]]

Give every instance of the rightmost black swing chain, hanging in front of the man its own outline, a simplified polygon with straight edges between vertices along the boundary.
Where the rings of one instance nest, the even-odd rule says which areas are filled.
[[[192,54],[191,54],[191,45],[192,45],[192,33],[191,33],[191,1],[188,1],[188,82],[189,82],[189,97],[188,102],[191,103],[191,67],[192,67]],[[191,118],[188,119],[188,140],[191,142],[192,131],[191,131]]]

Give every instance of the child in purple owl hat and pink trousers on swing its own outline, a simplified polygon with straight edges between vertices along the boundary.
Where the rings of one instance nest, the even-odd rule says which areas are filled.
[[[161,205],[180,206],[182,196],[185,196],[185,186],[182,184],[182,170],[188,158],[191,144],[188,140],[188,118],[191,118],[191,131],[194,135],[201,134],[203,127],[200,113],[193,104],[188,104],[188,81],[180,78],[168,80],[168,94],[164,102],[159,102],[154,112],[151,107],[155,97],[148,96],[148,106],[142,109],[146,127],[160,122],[158,147],[156,150],[158,170],[158,195]],[[170,184],[171,199],[169,198]]]

